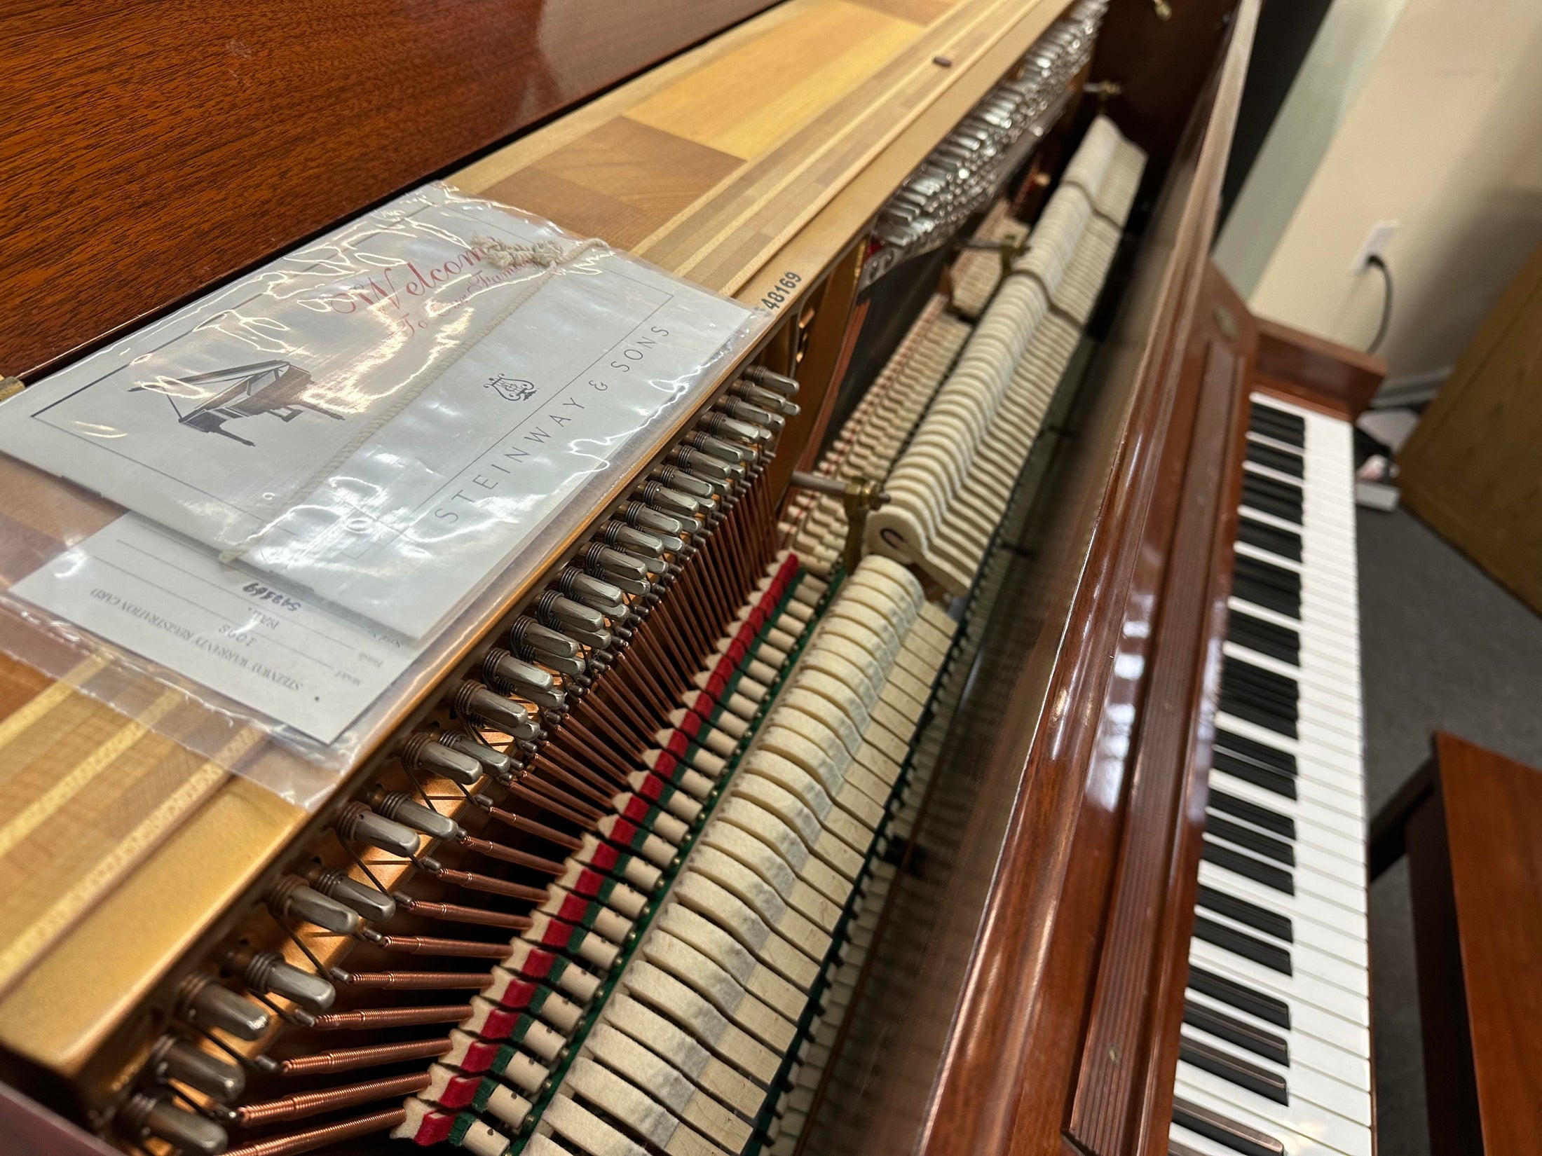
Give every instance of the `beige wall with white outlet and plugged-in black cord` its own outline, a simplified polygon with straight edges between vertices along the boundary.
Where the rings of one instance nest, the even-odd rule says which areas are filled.
[[[1542,240],[1539,62],[1542,0],[1406,0],[1247,294],[1254,311],[1365,345],[1382,285],[1349,265],[1377,220],[1399,220],[1382,353],[1394,378],[1451,365]],[[1234,211],[1227,231],[1263,220]]]

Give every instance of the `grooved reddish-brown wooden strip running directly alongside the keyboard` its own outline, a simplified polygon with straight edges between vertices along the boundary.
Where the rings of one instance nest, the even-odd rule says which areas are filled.
[[[1138,1150],[1149,1122],[1170,1113],[1172,1070],[1160,1059],[1183,1000],[1241,478],[1244,351],[1215,330],[1215,279],[1212,270],[1195,313],[1175,415],[1183,428],[1147,530],[1166,573],[1070,1122],[1078,1144],[1110,1156]]]

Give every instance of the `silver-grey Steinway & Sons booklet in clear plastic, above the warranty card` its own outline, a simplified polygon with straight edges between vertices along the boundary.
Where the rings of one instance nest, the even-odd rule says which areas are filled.
[[[569,499],[657,450],[759,324],[430,185],[0,404],[0,450],[421,646],[580,529]]]

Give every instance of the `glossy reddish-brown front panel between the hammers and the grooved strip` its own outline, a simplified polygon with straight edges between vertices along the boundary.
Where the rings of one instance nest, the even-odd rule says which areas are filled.
[[[956,780],[938,772],[931,795],[947,801],[917,825],[921,868],[896,880],[873,953],[899,962],[873,977],[853,1013],[867,1008],[868,1020],[833,1070],[808,1153],[1066,1145],[1161,584],[1147,515],[1172,476],[1163,465],[1173,378],[1206,277],[1255,14],[1243,5],[1217,62],[1215,99],[1195,109],[1123,321],[1082,387],[1092,401],[1072,421],[1075,450],[1041,499],[1042,524],[1016,547],[1041,564],[1004,595],[1010,661],[982,667],[981,680],[1001,684],[984,717],[964,717],[967,766]],[[1187,413],[1192,421],[1192,401]],[[1229,441],[1227,427],[1223,456]],[[1181,484],[1181,467],[1177,476]]]

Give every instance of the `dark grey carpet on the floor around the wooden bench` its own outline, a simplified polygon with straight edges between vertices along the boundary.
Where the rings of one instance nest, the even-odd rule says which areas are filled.
[[[1412,515],[1359,512],[1371,812],[1449,731],[1542,768],[1542,617]],[[1408,868],[1371,888],[1380,1151],[1428,1156]]]

